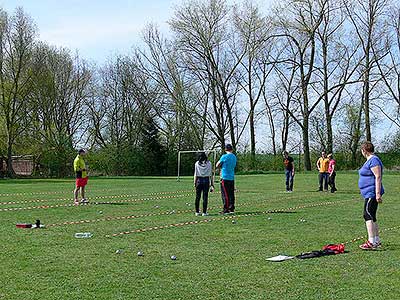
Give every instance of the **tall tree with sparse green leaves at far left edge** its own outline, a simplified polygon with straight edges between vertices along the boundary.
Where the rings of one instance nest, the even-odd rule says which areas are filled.
[[[35,25],[22,8],[9,17],[0,11],[0,108],[7,134],[7,172],[12,167],[13,146],[25,130],[26,97],[32,72],[31,59],[35,44]]]

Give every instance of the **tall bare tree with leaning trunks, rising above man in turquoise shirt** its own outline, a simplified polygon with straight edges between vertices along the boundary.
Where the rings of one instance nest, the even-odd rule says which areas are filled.
[[[225,122],[234,148],[238,143],[234,105],[238,87],[235,73],[245,56],[233,53],[229,8],[222,0],[192,0],[182,4],[169,22],[186,65],[207,82],[217,125],[215,133],[225,145]],[[211,129],[211,128],[210,128]]]

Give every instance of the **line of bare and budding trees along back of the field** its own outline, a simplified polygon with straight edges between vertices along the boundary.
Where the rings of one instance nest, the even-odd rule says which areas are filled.
[[[0,157],[65,176],[90,149],[104,174],[167,175],[179,150],[346,153],[400,128],[400,6],[393,0],[190,0],[129,55],[96,65],[40,41],[23,8],[0,11]],[[386,137],[382,150],[400,144]],[[0,165],[2,165],[0,163]]]

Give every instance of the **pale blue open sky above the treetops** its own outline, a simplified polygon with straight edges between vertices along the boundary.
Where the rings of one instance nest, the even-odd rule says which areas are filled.
[[[254,1],[262,3],[264,10],[273,2]],[[37,24],[41,40],[78,50],[84,58],[99,63],[140,44],[148,23],[168,31],[166,22],[180,3],[182,0],[0,0],[9,13],[22,6]]]

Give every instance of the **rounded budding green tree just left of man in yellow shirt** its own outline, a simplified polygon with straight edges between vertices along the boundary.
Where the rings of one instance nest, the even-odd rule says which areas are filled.
[[[78,56],[66,49],[39,44],[32,61],[33,82],[29,100],[30,126],[35,130],[41,151],[54,149],[60,160],[58,176],[68,174],[67,162],[74,146],[82,143],[89,121],[91,70]]]

